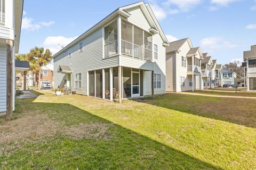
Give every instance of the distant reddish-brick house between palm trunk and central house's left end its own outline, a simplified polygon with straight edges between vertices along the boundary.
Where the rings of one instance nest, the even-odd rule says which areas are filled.
[[[41,68],[41,83],[49,82],[53,85],[53,64],[49,63]]]

